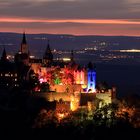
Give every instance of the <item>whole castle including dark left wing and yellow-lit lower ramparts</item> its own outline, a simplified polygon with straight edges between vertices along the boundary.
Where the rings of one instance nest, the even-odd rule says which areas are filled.
[[[96,71],[91,62],[87,67],[76,64],[73,51],[69,62],[53,58],[49,41],[42,59],[31,58],[26,34],[23,33],[14,63],[7,59],[5,48],[3,50],[0,60],[0,88],[23,87],[34,93],[45,92],[49,101],[63,99],[70,102],[74,106],[71,107],[72,110],[79,106],[82,98],[86,104],[95,97],[105,99],[106,103],[111,103],[115,98],[115,88],[97,90]]]

